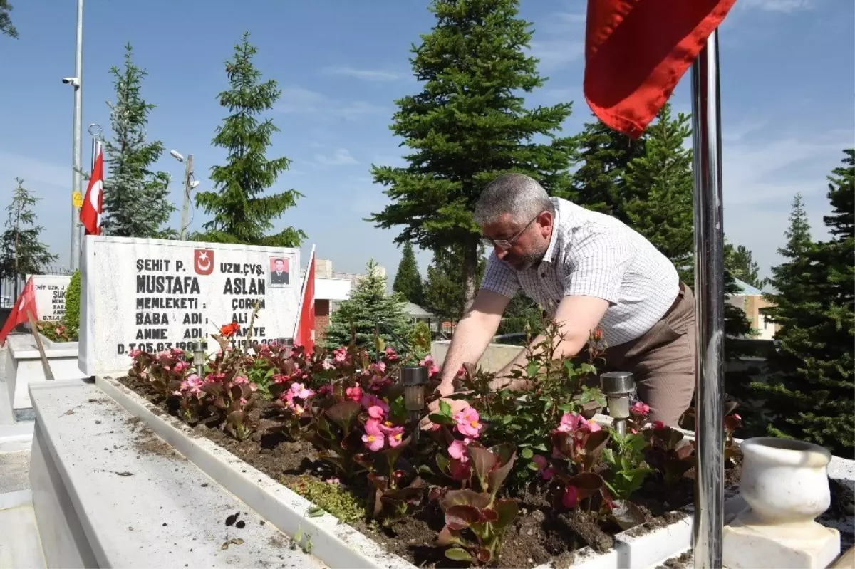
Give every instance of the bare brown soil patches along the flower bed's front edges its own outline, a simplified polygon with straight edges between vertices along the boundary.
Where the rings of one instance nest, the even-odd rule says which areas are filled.
[[[160,396],[152,396],[148,386],[133,379],[120,378],[119,381],[134,390],[140,396],[165,408]],[[175,409],[170,414],[178,415]],[[279,411],[266,402],[258,402],[251,409],[251,421],[257,424],[255,433],[244,441],[237,441],[221,431],[219,425],[199,424],[192,427],[198,436],[207,437],[223,449],[245,460],[274,480],[279,480],[292,490],[301,493],[301,480],[306,476],[323,481],[336,477],[333,469],[318,460],[314,447],[304,441],[289,441],[281,433],[268,433],[268,428],[279,425],[276,419]],[[728,468],[726,484],[739,482],[739,465]],[[368,496],[367,487],[347,488],[360,500]],[[615,525],[604,531],[601,523],[591,513],[582,511],[557,512],[545,496],[545,489],[533,487],[522,496],[515,496],[519,502],[520,513],[505,534],[504,548],[498,563],[491,566],[496,569],[519,569],[533,567],[554,560],[556,567],[570,566],[575,549],[590,546],[596,551],[607,551],[614,543],[614,534],[620,531]],[[644,487],[634,496],[633,502],[646,514],[646,522],[634,527],[636,535],[669,525],[685,514],[677,513],[681,507],[692,503],[694,485],[692,472],[682,478],[678,484],[666,488],[661,482],[648,478]],[[444,548],[435,546],[435,539],[444,525],[443,513],[435,503],[428,503],[413,515],[407,517],[392,529],[381,528],[364,519],[351,521],[357,531],[381,543],[386,551],[398,554],[416,566],[424,569],[445,569],[460,567],[460,563],[445,559]]]

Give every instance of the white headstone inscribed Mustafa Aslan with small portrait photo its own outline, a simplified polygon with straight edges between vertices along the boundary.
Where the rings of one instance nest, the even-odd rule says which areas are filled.
[[[272,270],[277,259],[286,266],[282,279]],[[237,342],[245,342],[258,299],[264,308],[252,337],[293,337],[299,268],[300,249],[87,236],[80,369],[91,376],[125,368],[134,348],[186,348],[233,320],[242,325]]]

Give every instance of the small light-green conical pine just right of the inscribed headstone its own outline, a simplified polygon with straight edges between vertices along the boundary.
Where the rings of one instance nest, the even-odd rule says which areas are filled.
[[[405,311],[405,300],[398,293],[386,296],[386,277],[380,275],[372,260],[368,272],[351,290],[351,297],[330,314],[324,341],[328,349],[351,343],[351,323],[356,329],[357,346],[374,350],[374,330],[380,323],[380,337],[386,345],[401,348],[409,343],[412,324]]]

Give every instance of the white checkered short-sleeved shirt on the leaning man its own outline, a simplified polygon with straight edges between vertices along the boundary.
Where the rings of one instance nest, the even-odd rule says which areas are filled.
[[[512,297],[522,291],[555,315],[563,296],[609,302],[600,328],[609,346],[643,336],[679,292],[674,264],[621,221],[553,197],[555,224],[540,267],[516,271],[493,251],[481,288]]]

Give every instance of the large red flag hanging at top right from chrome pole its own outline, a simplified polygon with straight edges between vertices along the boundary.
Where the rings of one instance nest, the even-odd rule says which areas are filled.
[[[588,0],[585,98],[638,138],[735,0]]]

